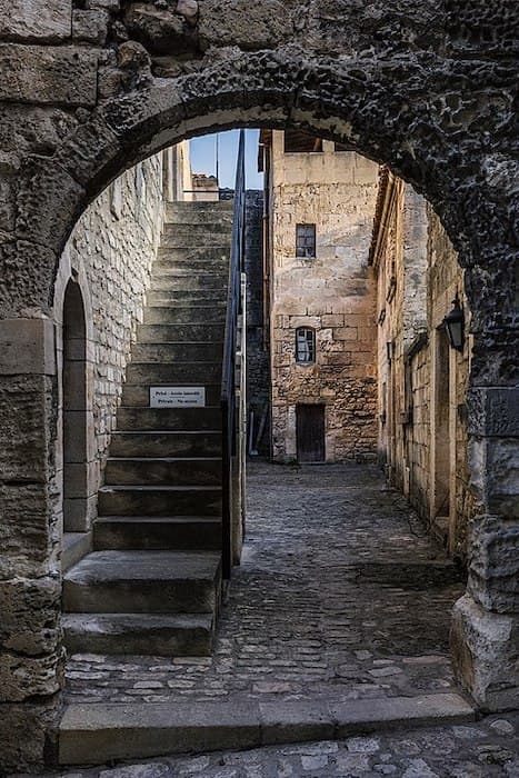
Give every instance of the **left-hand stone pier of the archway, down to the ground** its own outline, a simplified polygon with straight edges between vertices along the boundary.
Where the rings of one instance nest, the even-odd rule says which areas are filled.
[[[54,330],[0,321],[0,774],[43,764],[62,685]]]

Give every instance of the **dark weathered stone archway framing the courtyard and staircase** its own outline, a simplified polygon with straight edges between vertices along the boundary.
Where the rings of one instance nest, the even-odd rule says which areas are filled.
[[[47,4],[50,8],[51,0]],[[246,12],[240,2],[232,6],[238,16]],[[104,12],[106,23],[111,23],[104,49],[87,39],[73,51],[53,47],[49,53],[52,47],[30,44],[36,34],[30,33],[3,52],[11,74],[7,89],[14,84],[27,91],[27,116],[51,138],[43,142],[38,134],[20,132],[8,141],[0,169],[8,192],[0,246],[0,340],[13,342],[17,356],[1,370],[2,400],[4,412],[41,440],[30,462],[23,440],[2,440],[10,462],[2,486],[7,617],[0,648],[0,738],[7,744],[8,766],[41,764],[61,686],[52,499],[57,380],[48,318],[58,258],[84,207],[122,170],[181,139],[238,126],[289,124],[347,142],[388,162],[443,220],[467,270],[475,336],[469,413],[478,513],[468,592],[455,615],[455,660],[483,708],[510,707],[517,700],[513,62],[502,59],[493,32],[491,42],[480,43],[467,20],[460,29],[446,28],[443,17],[430,10],[420,16],[408,7],[397,20],[382,13],[385,34],[393,32],[395,40],[382,38],[381,43],[380,34],[360,34],[366,19],[359,21],[342,6],[330,26],[326,2],[305,4],[309,21],[297,32],[300,3],[291,2],[291,42],[278,6],[273,0],[261,3],[258,19],[248,26],[256,30],[250,41],[247,36],[253,32],[243,31],[243,24],[238,29],[236,14],[229,19],[207,2],[198,21],[182,22],[187,27],[180,39],[189,39],[190,26],[206,23],[210,46],[200,50],[190,72],[179,66],[166,77],[162,71],[156,76],[157,52],[150,54],[137,42],[119,44],[128,34],[147,46],[148,39],[142,30],[139,33],[139,21],[129,24],[123,14],[116,18],[118,11],[111,20]],[[365,16],[377,3],[368,6]],[[208,11],[212,32],[207,31]],[[116,24],[124,23],[122,34]],[[349,40],[342,30],[350,31]],[[43,36],[43,41],[49,39],[52,34]],[[230,46],[233,40],[237,44]],[[43,73],[39,94],[17,81],[22,56]],[[52,56],[57,67],[43,67],[44,58]],[[70,69],[74,89],[67,91]],[[9,93],[7,100],[12,102]],[[4,127],[19,121],[14,108],[8,103]],[[49,111],[52,130],[46,130]],[[12,387],[20,376],[24,402],[13,402]]]

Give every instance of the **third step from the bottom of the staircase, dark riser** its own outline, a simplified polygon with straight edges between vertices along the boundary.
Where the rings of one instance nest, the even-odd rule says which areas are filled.
[[[221,547],[221,521],[211,516],[103,516],[93,522],[101,550],[204,550]]]

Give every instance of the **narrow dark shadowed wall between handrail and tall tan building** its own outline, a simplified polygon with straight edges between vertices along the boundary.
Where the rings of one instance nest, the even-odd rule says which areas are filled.
[[[247,273],[247,410],[248,445],[251,411],[253,447],[265,417],[263,433],[258,452],[270,449],[270,358],[263,328],[263,192],[248,191],[246,202],[246,273]]]

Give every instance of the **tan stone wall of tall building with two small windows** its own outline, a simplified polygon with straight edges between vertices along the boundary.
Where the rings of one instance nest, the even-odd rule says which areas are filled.
[[[326,458],[376,449],[375,290],[368,268],[377,166],[323,142],[285,153],[272,137],[272,456],[297,457],[296,408],[326,406]],[[316,225],[316,257],[296,257],[296,226]],[[296,329],[316,330],[316,361],[296,362]]]

